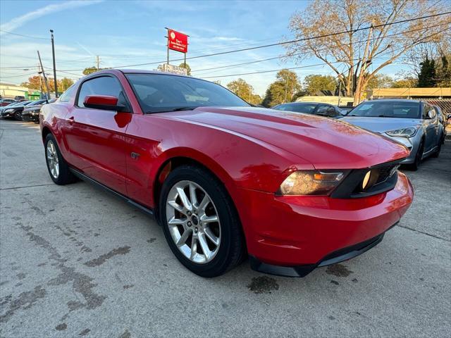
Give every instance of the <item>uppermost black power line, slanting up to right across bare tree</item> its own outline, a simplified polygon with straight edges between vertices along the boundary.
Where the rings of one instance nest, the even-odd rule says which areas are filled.
[[[272,47],[272,46],[282,46],[284,44],[292,44],[292,43],[295,43],[295,42],[302,42],[302,41],[307,41],[307,40],[312,40],[312,39],[321,39],[323,37],[331,37],[331,36],[334,36],[334,35],[342,35],[342,34],[346,34],[346,33],[350,33],[350,32],[354,32],[355,33],[355,32],[359,32],[359,31],[362,31],[362,30],[369,30],[370,28],[378,28],[378,27],[385,27],[385,26],[390,26],[390,25],[397,25],[397,24],[400,24],[400,23],[408,23],[408,22],[415,21],[415,20],[423,20],[423,19],[433,18],[433,17],[437,17],[437,16],[440,16],[440,15],[447,15],[447,14],[451,14],[451,11],[444,12],[444,13],[425,15],[425,16],[421,16],[419,18],[410,18],[410,19],[405,19],[405,20],[393,21],[393,23],[384,23],[384,24],[381,24],[381,25],[371,25],[371,26],[368,26],[368,27],[360,27],[360,28],[356,28],[354,30],[345,30],[345,31],[342,31],[342,32],[334,32],[334,33],[330,33],[330,34],[326,34],[326,35],[316,35],[316,36],[313,36],[313,37],[304,37],[302,39],[294,39],[294,40],[285,41],[285,42],[278,42],[278,43],[274,43],[274,44],[264,44],[264,45],[261,45],[261,46],[254,46],[254,47],[248,47],[248,48],[243,48],[243,49],[235,49],[235,50],[232,50],[232,51],[221,51],[221,52],[213,53],[213,54],[205,54],[205,55],[199,55],[199,56],[190,56],[190,57],[186,58],[186,60],[192,60],[192,59],[195,59],[195,58],[206,58],[206,57],[209,57],[209,56],[218,56],[218,55],[230,54],[230,53],[237,53],[237,52],[240,52],[240,51],[250,51],[250,50],[254,50],[254,49],[261,49],[261,48],[267,48],[267,47]],[[184,58],[175,58],[175,59],[173,59],[171,61],[183,61],[183,60],[185,60],[185,59]],[[134,65],[118,65],[116,67],[111,67],[111,68],[127,68],[127,67],[136,67],[136,66],[140,66],[140,65],[156,65],[156,64],[159,64],[159,63],[166,63],[166,60],[157,61],[157,62],[149,62],[149,63],[137,63],[137,64],[134,64]],[[76,70],[82,70],[82,69],[68,69],[68,70],[69,71],[70,70],[76,71]]]

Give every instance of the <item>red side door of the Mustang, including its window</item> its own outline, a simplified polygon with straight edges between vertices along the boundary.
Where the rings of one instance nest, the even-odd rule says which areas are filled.
[[[129,113],[86,108],[87,95],[118,97],[118,103],[130,107],[121,82],[108,74],[91,77],[80,84],[75,104],[66,115],[66,143],[71,164],[94,180],[125,194],[125,130]]]

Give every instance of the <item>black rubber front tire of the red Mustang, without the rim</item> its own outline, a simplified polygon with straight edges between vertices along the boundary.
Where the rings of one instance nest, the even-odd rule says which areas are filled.
[[[180,252],[173,241],[166,219],[166,201],[171,188],[181,181],[192,181],[202,187],[216,207],[221,222],[221,239],[216,256],[208,263],[194,263]],[[240,218],[233,201],[223,184],[208,170],[194,165],[182,165],[175,168],[163,182],[159,200],[159,218],[163,226],[164,236],[171,251],[180,263],[196,275],[216,277],[226,273],[241,263],[245,256],[245,241]]]

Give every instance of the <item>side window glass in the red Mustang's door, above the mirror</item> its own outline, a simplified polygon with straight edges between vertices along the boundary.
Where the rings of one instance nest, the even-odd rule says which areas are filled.
[[[118,98],[119,104],[126,104],[122,87],[116,77],[102,76],[95,77],[82,83],[80,94],[78,94],[77,106],[84,107],[83,102],[87,95],[111,95]]]

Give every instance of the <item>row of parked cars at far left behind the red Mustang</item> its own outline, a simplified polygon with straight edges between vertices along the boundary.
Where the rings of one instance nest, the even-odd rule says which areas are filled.
[[[0,107],[0,117],[18,121],[39,122],[39,111],[44,104],[54,102],[47,99],[37,101],[13,101],[8,106]]]

